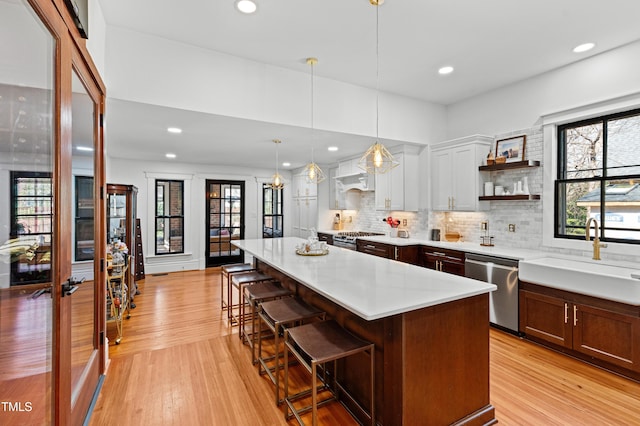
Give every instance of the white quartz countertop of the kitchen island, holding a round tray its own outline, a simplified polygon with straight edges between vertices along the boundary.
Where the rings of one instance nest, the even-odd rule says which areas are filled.
[[[329,246],[326,256],[300,256],[295,249],[303,241],[286,237],[232,244],[369,321],[496,289],[493,284],[340,247]]]

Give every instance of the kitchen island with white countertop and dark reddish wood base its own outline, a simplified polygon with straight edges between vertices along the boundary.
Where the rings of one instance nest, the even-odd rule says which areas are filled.
[[[251,254],[258,269],[375,344],[378,423],[495,423],[488,298],[494,285],[337,247],[326,256],[299,256],[302,241],[233,244]],[[368,362],[356,356],[339,368],[345,388],[370,407]],[[343,402],[364,421],[357,406]]]

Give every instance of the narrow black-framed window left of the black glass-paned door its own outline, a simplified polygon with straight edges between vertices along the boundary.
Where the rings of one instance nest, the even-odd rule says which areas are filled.
[[[184,182],[156,180],[156,254],[184,253]]]

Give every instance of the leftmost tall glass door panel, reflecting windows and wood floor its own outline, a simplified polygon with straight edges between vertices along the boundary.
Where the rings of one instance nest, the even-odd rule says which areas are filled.
[[[26,1],[0,1],[0,40],[0,424],[48,425],[56,44]]]

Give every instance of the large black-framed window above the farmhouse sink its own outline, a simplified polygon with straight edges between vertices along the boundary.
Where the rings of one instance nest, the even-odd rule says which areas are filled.
[[[640,244],[640,109],[558,127],[555,237]],[[593,231],[591,231],[593,236]]]

